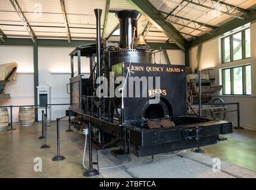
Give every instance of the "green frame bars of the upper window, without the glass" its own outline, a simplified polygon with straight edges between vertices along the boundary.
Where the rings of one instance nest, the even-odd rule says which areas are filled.
[[[238,33],[241,33],[242,35],[242,59],[248,59],[248,58],[251,58],[251,56],[249,56],[248,58],[246,58],[246,43],[245,43],[245,31],[246,30],[250,30],[250,34],[251,34],[251,28],[248,27],[246,29],[243,29],[243,30],[240,30],[240,31],[237,31],[236,33],[233,33],[233,34],[230,34],[229,36],[225,36],[223,38],[221,38],[221,62],[222,64],[227,64],[229,62],[233,62],[234,61],[234,55],[233,55],[233,36],[235,34],[238,34]],[[227,37],[229,37],[229,40],[230,40],[230,61],[227,61],[225,62],[225,45],[224,45],[224,39],[226,39]],[[235,61],[239,61],[239,60],[242,60],[242,59],[237,59]]]

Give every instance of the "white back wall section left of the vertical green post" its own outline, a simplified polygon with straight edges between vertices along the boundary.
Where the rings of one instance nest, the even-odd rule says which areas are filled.
[[[31,46],[0,46],[0,64],[17,62],[17,78],[12,81],[5,91],[11,99],[1,102],[1,106],[33,105],[34,104],[34,75],[33,47]],[[28,73],[30,72],[30,73]],[[9,110],[10,113],[10,110]],[[18,108],[13,108],[14,122],[18,121]]]

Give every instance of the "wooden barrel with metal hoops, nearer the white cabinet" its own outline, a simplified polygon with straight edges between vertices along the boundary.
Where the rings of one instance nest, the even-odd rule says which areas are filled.
[[[30,126],[35,122],[35,109],[33,106],[20,107],[18,112],[20,126]]]

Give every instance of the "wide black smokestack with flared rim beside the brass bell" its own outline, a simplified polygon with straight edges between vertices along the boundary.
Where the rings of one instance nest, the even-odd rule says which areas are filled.
[[[137,21],[141,17],[141,13],[135,10],[123,10],[115,13],[115,17],[119,20],[120,26],[120,47],[132,49],[133,32],[135,30],[135,38],[138,36]]]

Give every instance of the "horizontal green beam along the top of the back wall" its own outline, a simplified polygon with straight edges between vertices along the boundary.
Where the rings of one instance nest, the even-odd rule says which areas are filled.
[[[77,47],[81,45],[87,45],[95,43],[94,40],[72,40],[71,43],[68,43],[67,40],[54,40],[54,39],[38,39],[38,46],[49,46],[49,47]],[[117,42],[118,43],[118,42]],[[148,45],[151,49],[159,49],[161,46],[162,49],[180,49],[174,43],[157,43],[157,42],[148,42]],[[33,46],[33,42],[30,39],[25,38],[5,38],[5,42],[0,41],[0,46]]]

